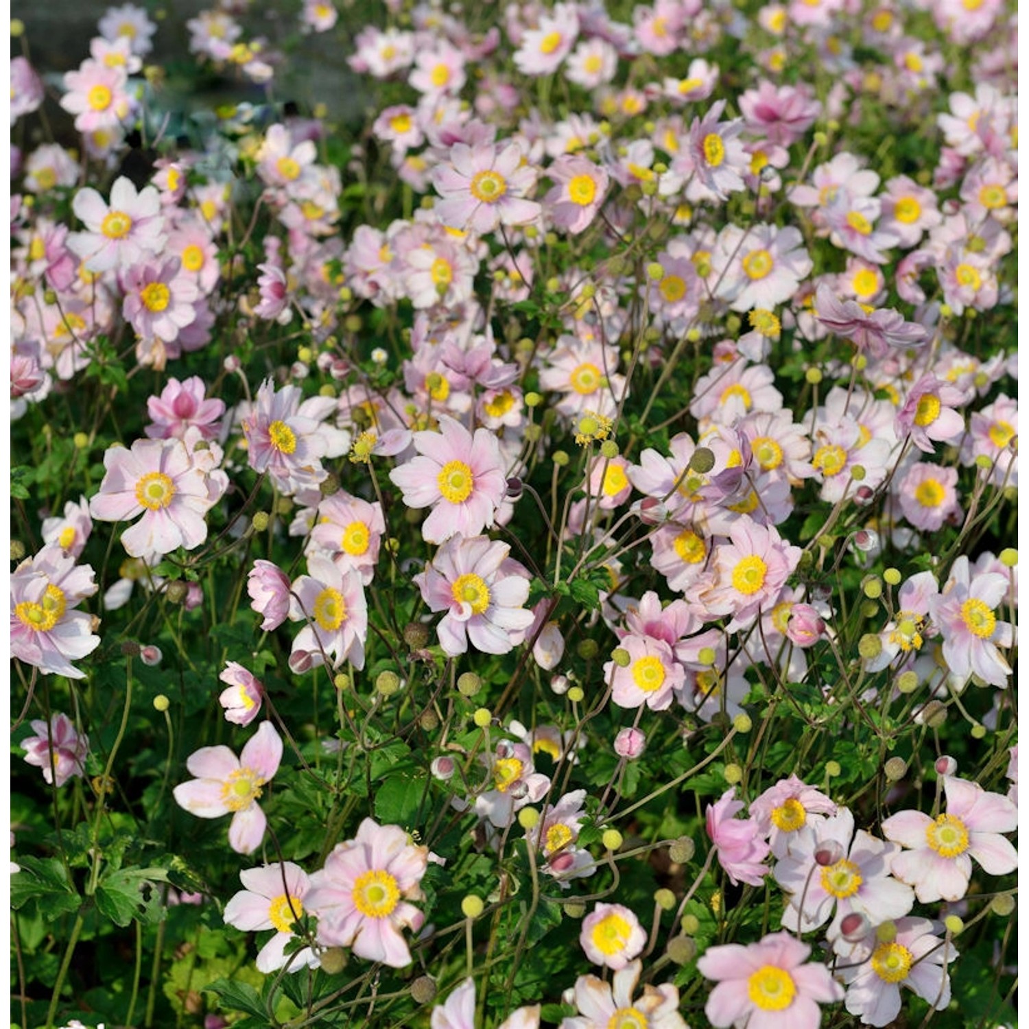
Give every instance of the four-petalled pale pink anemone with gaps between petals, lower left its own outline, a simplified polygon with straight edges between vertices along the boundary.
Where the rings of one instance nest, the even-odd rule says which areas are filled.
[[[257,799],[281,760],[282,740],[270,721],[262,721],[239,757],[224,746],[193,751],[186,769],[196,778],[175,787],[175,801],[198,818],[220,818],[232,812],[228,845],[238,854],[251,854],[260,846],[268,825]]]

